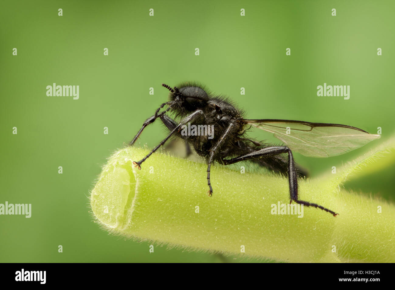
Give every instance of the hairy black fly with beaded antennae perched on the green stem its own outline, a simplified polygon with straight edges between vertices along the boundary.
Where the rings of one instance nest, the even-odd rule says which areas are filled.
[[[209,196],[213,193],[210,184],[211,163],[229,165],[250,159],[275,172],[288,172],[291,202],[320,208],[336,216],[337,213],[323,206],[298,199],[297,178],[305,174],[295,165],[291,149],[305,156],[329,157],[349,152],[380,137],[380,135],[372,135],[361,129],[341,124],[275,119],[248,120],[244,118],[245,113],[236,109],[228,98],[214,96],[202,84],[182,82],[174,88],[167,84],[162,84],[162,86],[170,91],[169,101],[160,105],[155,114],[143,123],[140,131],[129,144],[133,145],[144,128],[157,118],[162,120],[170,133],[147,156],[133,164],[141,169],[141,164],[172,135],[180,137],[207,161]],[[163,109],[165,106],[167,106],[166,109]],[[163,109],[162,112],[160,112],[161,109]],[[167,116],[167,112],[180,121]],[[211,127],[214,129],[214,134],[211,138],[207,135],[183,135],[180,130],[187,123],[213,125]],[[246,130],[251,126],[274,133],[274,136],[287,146],[273,146],[248,138]],[[282,157],[284,153],[288,154],[288,161]]]

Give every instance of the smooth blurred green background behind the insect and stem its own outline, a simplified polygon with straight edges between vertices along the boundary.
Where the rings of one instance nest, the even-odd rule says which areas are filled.
[[[106,157],[166,101],[162,82],[198,80],[229,95],[247,118],[344,123],[374,134],[382,127],[381,140],[346,155],[294,154],[313,178],[329,172],[394,133],[394,9],[393,1],[360,0],[2,1],[0,203],[30,203],[32,217],[0,216],[0,262],[221,262],[166,246],[150,254],[147,242],[95,224],[88,196]],[[48,97],[53,82],[79,85],[79,99]],[[350,99],[318,97],[324,82],[350,85]],[[278,143],[258,131],[252,136]],[[152,148],[164,137],[155,123],[139,142]],[[346,188],[394,200],[394,171]]]

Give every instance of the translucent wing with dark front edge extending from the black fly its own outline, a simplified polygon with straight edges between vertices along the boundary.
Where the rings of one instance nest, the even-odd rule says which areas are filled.
[[[274,133],[296,152],[311,157],[341,155],[380,138],[348,125],[310,123],[293,120],[244,120],[259,129]]]

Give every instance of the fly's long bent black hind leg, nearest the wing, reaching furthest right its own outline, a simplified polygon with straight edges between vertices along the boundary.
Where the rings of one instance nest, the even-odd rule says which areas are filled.
[[[223,159],[222,161],[224,162],[224,165],[229,165],[229,164],[237,163],[237,162],[240,162],[243,160],[259,159],[261,157],[273,156],[273,155],[278,155],[278,154],[282,154],[282,153],[288,153],[288,182],[289,182],[289,187],[290,187],[291,202],[293,200],[297,204],[303,204],[305,206],[312,206],[314,208],[320,208],[321,210],[331,213],[334,217],[337,216],[339,213],[335,213],[334,211],[324,208],[323,206],[320,206],[319,204],[315,204],[315,203],[304,201],[304,200],[299,200],[295,162],[293,161],[293,155],[292,155],[290,148],[288,148],[286,146],[267,147],[267,148],[263,148],[261,150],[258,150],[258,151],[252,152],[252,153],[248,153],[246,155],[242,155],[242,156],[239,156],[239,157],[236,157],[233,159],[229,159],[229,160]]]

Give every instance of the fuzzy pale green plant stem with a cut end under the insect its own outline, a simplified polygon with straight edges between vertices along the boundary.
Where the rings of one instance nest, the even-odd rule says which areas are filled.
[[[344,178],[299,182],[301,199],[339,216],[308,207],[302,218],[273,215],[272,204],[290,202],[287,178],[215,165],[209,197],[207,165],[155,153],[132,166],[148,152],[116,152],[92,190],[94,215],[115,234],[287,262],[395,262],[395,206],[340,189]]]

